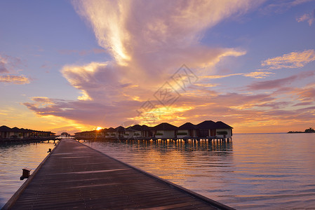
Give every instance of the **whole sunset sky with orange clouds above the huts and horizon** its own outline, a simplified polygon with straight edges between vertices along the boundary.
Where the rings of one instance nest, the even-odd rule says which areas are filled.
[[[0,126],[315,127],[315,1],[0,1]]]

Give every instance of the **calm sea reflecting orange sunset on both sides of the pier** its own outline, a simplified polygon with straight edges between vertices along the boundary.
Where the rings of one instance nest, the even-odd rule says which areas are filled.
[[[82,141],[81,141],[82,142]],[[234,134],[232,143],[84,142],[236,209],[315,209],[315,134]],[[52,144],[0,146],[0,207]]]

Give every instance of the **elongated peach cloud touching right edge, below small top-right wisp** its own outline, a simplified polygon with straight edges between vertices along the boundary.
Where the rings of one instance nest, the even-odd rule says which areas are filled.
[[[269,66],[269,69],[283,69],[283,68],[299,68],[303,67],[309,62],[315,60],[314,50],[304,50],[303,52],[290,52],[280,57],[273,57],[262,62],[262,66]]]

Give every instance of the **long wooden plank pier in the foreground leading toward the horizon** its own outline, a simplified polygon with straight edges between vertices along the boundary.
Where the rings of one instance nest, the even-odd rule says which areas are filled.
[[[62,139],[3,209],[232,209]]]

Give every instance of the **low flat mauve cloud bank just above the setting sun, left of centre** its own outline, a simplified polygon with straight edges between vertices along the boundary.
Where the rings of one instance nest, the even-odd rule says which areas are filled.
[[[69,101],[60,99],[49,99],[46,102],[23,103],[28,109],[34,111],[39,116],[58,116],[71,119],[83,125],[120,125],[128,118],[135,116],[135,109],[142,104],[133,100],[104,104],[102,102],[91,101]]]

